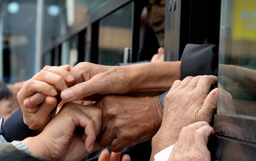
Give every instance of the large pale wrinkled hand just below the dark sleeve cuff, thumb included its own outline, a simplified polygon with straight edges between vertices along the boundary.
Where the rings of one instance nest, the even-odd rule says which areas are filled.
[[[173,145],[183,127],[197,121],[210,123],[217,108],[217,89],[209,93],[217,77],[204,75],[175,81],[164,100],[164,115],[157,134],[152,138],[152,155]],[[208,94],[209,93],[209,94]]]

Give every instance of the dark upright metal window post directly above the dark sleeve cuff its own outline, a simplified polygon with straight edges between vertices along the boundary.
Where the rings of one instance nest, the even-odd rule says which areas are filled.
[[[215,16],[220,15],[220,5],[220,0],[166,0],[165,61],[181,60],[188,43],[219,44],[219,34],[209,32],[216,24]],[[215,12],[215,8],[219,10]]]

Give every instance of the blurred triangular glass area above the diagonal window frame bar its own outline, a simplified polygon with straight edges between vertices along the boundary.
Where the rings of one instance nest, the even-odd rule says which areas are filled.
[[[106,0],[45,0],[44,44],[52,43],[59,35],[66,34],[69,27],[79,24]]]

